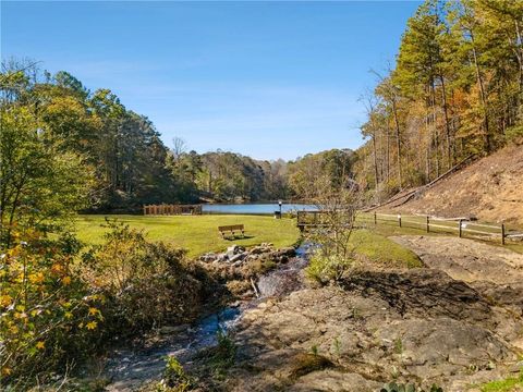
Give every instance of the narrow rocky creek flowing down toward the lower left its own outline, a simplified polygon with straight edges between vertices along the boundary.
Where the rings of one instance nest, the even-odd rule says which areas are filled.
[[[144,382],[159,380],[166,366],[166,356],[173,355],[181,364],[190,363],[198,351],[217,343],[219,331],[233,331],[246,309],[264,298],[283,296],[300,290],[304,284],[303,268],[308,262],[307,255],[312,248],[311,244],[302,244],[296,249],[295,257],[260,277],[256,282],[258,298],[235,303],[234,306],[203,317],[194,326],[177,328],[149,347],[113,352],[105,367],[106,376],[112,380],[107,390],[133,391]]]

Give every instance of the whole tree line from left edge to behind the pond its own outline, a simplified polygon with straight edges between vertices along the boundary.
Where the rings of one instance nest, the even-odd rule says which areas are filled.
[[[324,173],[349,173],[352,151],[260,161],[230,151],[169,148],[153,122],[110,89],[68,72],[7,61],[0,74],[0,220],[46,224],[76,211],[144,204],[301,199]]]

